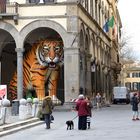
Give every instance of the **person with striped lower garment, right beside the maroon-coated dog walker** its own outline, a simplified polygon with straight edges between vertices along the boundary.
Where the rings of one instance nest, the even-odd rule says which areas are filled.
[[[91,117],[92,117],[92,108],[93,105],[90,101],[90,97],[86,97],[86,101],[87,101],[87,106],[88,106],[88,115],[87,115],[87,128],[90,129],[90,124],[91,124]]]

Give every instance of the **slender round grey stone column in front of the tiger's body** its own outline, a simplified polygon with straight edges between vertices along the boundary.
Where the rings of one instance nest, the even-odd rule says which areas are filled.
[[[23,98],[23,52],[24,48],[16,48],[17,52],[17,99]]]

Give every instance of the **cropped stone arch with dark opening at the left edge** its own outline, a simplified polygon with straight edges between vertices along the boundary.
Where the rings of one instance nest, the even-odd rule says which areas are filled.
[[[17,61],[15,48],[18,42],[17,29],[7,22],[0,22],[0,83],[9,85]],[[10,69],[9,69],[10,68]]]

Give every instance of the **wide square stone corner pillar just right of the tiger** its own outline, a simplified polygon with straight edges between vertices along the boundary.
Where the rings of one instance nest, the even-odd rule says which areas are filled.
[[[79,95],[79,48],[64,49],[65,102]]]

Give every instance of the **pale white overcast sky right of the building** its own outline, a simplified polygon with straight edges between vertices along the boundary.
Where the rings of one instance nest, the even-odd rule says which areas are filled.
[[[122,30],[130,37],[136,58],[140,61],[140,0],[119,0],[118,10],[122,21]]]

